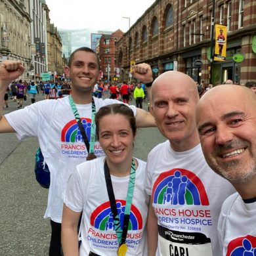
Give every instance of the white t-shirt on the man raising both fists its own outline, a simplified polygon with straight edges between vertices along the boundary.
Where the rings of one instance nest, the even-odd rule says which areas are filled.
[[[119,100],[94,98],[96,111],[102,106],[121,103]],[[76,104],[79,116],[90,140],[92,104]],[[136,116],[136,107],[130,106]],[[87,158],[87,149],[79,131],[68,97],[58,100],[42,100],[30,106],[5,115],[17,133],[18,139],[38,137],[45,161],[51,171],[48,205],[45,218],[61,223],[62,192],[75,166]],[[51,118],[53,117],[53,118]],[[95,155],[104,152],[95,142]],[[31,156],[30,156],[31,157]]]

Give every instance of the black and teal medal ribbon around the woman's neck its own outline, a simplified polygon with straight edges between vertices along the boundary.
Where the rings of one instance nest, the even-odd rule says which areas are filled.
[[[116,198],[114,195],[114,190],[113,190],[111,176],[110,176],[110,169],[108,168],[107,161],[105,161],[104,163],[104,174],[105,174],[106,187],[108,190],[108,198],[110,200],[110,207],[111,207],[111,211],[114,219],[114,226],[116,230],[118,244],[119,245],[125,244],[127,231],[129,227],[131,202],[133,201],[133,192],[135,187],[135,177],[136,177],[135,161],[132,160],[132,163],[131,163],[130,179],[129,179],[129,185],[127,190],[126,203],[125,203],[125,216],[123,218],[123,228],[121,228],[119,215],[117,213]]]

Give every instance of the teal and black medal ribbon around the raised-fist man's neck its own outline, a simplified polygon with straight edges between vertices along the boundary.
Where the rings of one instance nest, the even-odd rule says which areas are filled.
[[[95,134],[96,134],[96,125],[95,125],[95,114],[96,114],[96,107],[95,107],[95,100],[92,98],[92,113],[91,113],[91,139],[90,142],[88,141],[87,135],[85,133],[85,128],[83,127],[83,123],[81,122],[81,118],[79,116],[78,110],[75,106],[75,102],[72,98],[72,95],[68,96],[68,99],[70,100],[70,106],[74,113],[75,120],[77,121],[77,125],[79,127],[79,130],[81,131],[81,135],[83,137],[83,141],[85,142],[85,146],[87,148],[88,154],[94,154],[94,148],[95,148]]]

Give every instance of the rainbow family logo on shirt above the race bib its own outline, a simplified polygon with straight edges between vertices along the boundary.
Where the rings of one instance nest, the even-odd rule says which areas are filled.
[[[171,205],[209,205],[202,181],[191,171],[171,169],[156,179],[153,202]]]

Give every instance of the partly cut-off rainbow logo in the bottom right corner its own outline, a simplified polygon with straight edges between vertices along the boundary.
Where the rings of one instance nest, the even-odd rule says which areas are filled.
[[[232,240],[228,244],[226,256],[255,256],[256,255],[256,237],[244,236]]]

